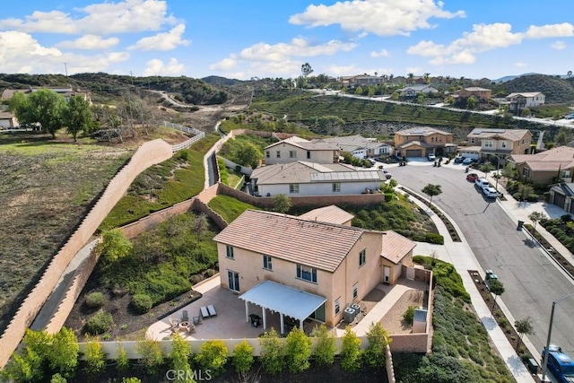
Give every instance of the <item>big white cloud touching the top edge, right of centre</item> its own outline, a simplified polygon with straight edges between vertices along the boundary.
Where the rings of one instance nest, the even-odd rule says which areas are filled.
[[[289,22],[310,27],[341,25],[344,30],[363,31],[378,36],[409,36],[413,30],[430,29],[431,18],[465,17],[463,11],[451,13],[434,0],[351,0],[333,5],[314,5],[294,14]]]

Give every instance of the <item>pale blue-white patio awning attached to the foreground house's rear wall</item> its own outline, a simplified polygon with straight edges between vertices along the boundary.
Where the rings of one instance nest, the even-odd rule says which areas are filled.
[[[273,281],[257,284],[239,299],[299,320],[305,320],[326,302],[326,298]]]

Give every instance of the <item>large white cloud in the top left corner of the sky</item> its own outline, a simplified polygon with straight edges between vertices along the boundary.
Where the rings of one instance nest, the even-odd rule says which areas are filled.
[[[0,29],[25,32],[94,34],[135,33],[160,30],[164,23],[173,23],[166,15],[166,1],[125,0],[117,3],[91,4],[74,9],[74,14],[60,11],[36,11],[23,19],[0,20]]]

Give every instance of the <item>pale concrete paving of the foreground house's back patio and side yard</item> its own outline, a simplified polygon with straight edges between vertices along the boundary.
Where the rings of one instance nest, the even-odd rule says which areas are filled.
[[[361,304],[363,310],[361,314],[352,322],[351,326],[357,335],[365,335],[369,330],[369,326],[373,322],[378,322],[385,316],[387,311],[392,309],[396,301],[399,300],[404,292],[409,290],[425,290],[425,284],[415,281],[401,279],[399,284],[396,285],[383,285],[379,284],[375,289],[382,291],[381,295],[384,296],[383,300],[373,304]],[[203,306],[213,305],[217,310],[216,317],[202,318],[201,324],[196,326],[196,332],[189,334],[187,332],[180,332],[185,339],[188,340],[211,340],[211,339],[243,339],[243,338],[257,338],[265,331],[270,331],[273,327],[278,333],[280,332],[280,318],[279,313],[270,313],[267,310],[267,328],[263,328],[263,320],[261,326],[251,326],[250,318],[245,316],[245,301],[239,299],[239,293],[230,292],[220,287],[219,274],[214,275],[212,278],[196,285],[195,290],[201,292],[203,297],[195,302],[179,309],[170,316],[161,319],[154,323],[147,329],[146,337],[148,339],[162,340],[168,339],[171,335],[171,320],[178,320],[181,322],[183,311],[187,311],[189,321],[193,321],[194,317],[200,316],[200,308]],[[370,294],[372,296],[372,294]],[[376,294],[377,295],[377,294]],[[369,295],[368,295],[369,296]],[[372,302],[371,302],[372,303]],[[367,312],[364,312],[366,308]],[[249,304],[248,314],[257,314],[263,317],[262,309],[253,304]],[[247,320],[249,319],[249,321]],[[286,318],[287,319],[287,318]],[[286,329],[288,320],[285,320]],[[303,329],[306,334],[310,334],[311,330],[319,322],[313,319],[306,319],[303,323]],[[344,333],[344,326],[341,323],[335,328],[337,336]],[[298,326],[298,324],[297,324]]]

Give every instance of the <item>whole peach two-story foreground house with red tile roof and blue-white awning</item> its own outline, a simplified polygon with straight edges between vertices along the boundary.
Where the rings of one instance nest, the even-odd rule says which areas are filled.
[[[312,213],[323,218],[330,213]],[[348,217],[333,211],[335,222]],[[222,288],[238,292],[246,315],[311,318],[336,326],[344,309],[378,283],[396,283],[413,265],[415,243],[395,231],[370,231],[282,213],[247,210],[214,238]],[[281,329],[284,332],[283,328]]]

